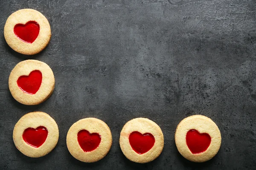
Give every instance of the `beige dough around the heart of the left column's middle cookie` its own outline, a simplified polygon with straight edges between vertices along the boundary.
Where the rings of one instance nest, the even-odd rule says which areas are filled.
[[[41,71],[41,86],[35,94],[29,94],[18,86],[17,80],[20,76],[29,76],[35,70]],[[24,105],[38,105],[44,102],[52,94],[54,85],[55,79],[52,69],[46,63],[38,60],[29,59],[19,62],[9,76],[9,89],[12,96]]]

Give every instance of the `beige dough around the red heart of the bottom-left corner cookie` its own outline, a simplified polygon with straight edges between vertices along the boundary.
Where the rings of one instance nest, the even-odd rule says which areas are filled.
[[[27,144],[23,140],[24,130],[29,127],[36,129],[40,126],[44,126],[48,130],[45,142],[40,147],[33,147]],[[30,112],[22,116],[16,123],[13,130],[13,141],[17,149],[24,155],[33,158],[45,156],[51,152],[58,142],[58,137],[58,125],[54,119],[52,119],[52,117],[47,113],[39,111]]]

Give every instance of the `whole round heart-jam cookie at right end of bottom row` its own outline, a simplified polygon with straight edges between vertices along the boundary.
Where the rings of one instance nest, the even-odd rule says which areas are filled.
[[[221,132],[210,118],[189,116],[177,126],[175,144],[180,154],[189,161],[208,161],[221,147]]]

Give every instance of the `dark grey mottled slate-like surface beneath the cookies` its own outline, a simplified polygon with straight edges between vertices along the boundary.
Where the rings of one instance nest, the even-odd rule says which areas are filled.
[[[52,39],[40,54],[25,56],[4,40],[12,12],[44,14]],[[192,170],[256,168],[255,0],[1,0],[0,169]],[[12,68],[24,59],[46,62],[55,90],[41,105],[26,106],[8,88]],[[12,130],[21,116],[44,111],[60,137],[47,156],[20,153]],[[178,153],[177,124],[203,114],[218,125],[222,143],[205,163]],[[113,135],[108,155],[82,163],[66,147],[66,134],[79,119],[96,117]],[[165,145],[155,161],[129,161],[119,147],[125,122],[146,117],[162,129]]]

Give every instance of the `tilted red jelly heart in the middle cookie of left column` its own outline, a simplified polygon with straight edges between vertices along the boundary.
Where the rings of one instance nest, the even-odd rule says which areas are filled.
[[[31,71],[29,76],[20,76],[17,85],[28,94],[36,94],[42,83],[42,73],[39,70]]]

